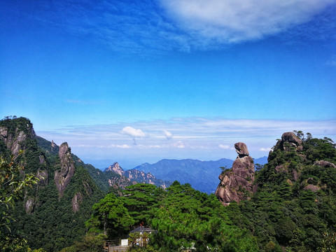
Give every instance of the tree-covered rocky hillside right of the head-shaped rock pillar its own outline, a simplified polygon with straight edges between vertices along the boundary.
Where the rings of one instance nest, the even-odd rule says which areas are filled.
[[[256,193],[246,190],[250,200],[227,207],[232,224],[250,230],[265,251],[335,251],[335,163],[331,139],[283,134],[255,172]]]

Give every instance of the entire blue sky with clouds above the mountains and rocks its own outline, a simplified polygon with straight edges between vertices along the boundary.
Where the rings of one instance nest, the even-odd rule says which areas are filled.
[[[98,167],[336,139],[335,0],[0,3],[0,115]],[[99,161],[102,160],[102,161]]]

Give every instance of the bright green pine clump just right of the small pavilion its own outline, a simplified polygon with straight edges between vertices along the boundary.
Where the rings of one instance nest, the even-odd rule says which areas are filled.
[[[175,181],[153,210],[157,230],[151,244],[158,251],[258,251],[248,230],[231,225],[225,208],[214,195]]]

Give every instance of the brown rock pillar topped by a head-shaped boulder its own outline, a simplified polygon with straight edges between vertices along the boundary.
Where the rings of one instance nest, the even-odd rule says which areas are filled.
[[[219,183],[215,195],[223,205],[228,206],[230,202],[240,202],[253,193],[254,163],[249,156],[246,144],[235,144],[238,157],[233,162],[232,168],[225,170],[219,176]]]

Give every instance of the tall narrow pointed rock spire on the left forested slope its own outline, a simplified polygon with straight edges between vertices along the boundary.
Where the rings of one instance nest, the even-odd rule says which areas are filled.
[[[64,190],[75,173],[75,163],[73,162],[71,149],[67,143],[63,143],[59,146],[58,155],[61,169],[55,172],[55,184],[59,192],[59,197],[63,197]]]

